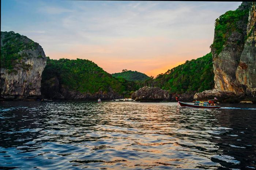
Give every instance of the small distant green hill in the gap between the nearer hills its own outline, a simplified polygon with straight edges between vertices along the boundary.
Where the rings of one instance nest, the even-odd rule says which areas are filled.
[[[131,70],[123,70],[121,73],[114,73],[112,74],[113,77],[116,78],[124,78],[127,81],[144,81],[147,80],[148,77],[146,74],[144,73],[140,73],[137,71],[131,71]]]

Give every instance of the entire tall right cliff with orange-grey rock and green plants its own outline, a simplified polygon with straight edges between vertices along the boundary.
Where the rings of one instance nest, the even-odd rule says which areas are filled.
[[[211,52],[215,89],[225,93],[223,100],[236,96],[238,100],[255,101],[255,20],[255,2],[243,2],[236,11],[228,11],[216,20]],[[204,93],[195,94],[194,99],[211,96],[209,90]]]

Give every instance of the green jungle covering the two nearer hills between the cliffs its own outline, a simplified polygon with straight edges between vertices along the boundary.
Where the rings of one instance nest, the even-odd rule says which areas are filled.
[[[129,72],[129,71],[124,71]],[[92,61],[86,59],[59,59],[47,57],[47,65],[42,73],[42,81],[56,76],[60,84],[79,92],[109,92],[113,89],[124,97],[143,86],[155,86],[171,93],[195,93],[214,87],[214,73],[211,53],[198,59],[186,61],[156,78],[143,81],[127,81],[124,77],[112,77]]]

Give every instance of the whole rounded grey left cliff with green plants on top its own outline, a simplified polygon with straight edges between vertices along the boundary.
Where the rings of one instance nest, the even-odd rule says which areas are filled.
[[[32,99],[41,95],[44,50],[26,36],[1,32],[1,98]]]

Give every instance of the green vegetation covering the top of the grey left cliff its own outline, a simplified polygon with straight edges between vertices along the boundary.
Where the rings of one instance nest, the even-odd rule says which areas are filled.
[[[1,68],[8,69],[9,73],[16,72],[15,66],[21,65],[24,69],[29,69],[30,65],[26,65],[24,62],[20,62],[23,58],[28,58],[26,54],[18,54],[23,50],[33,50],[37,47],[38,43],[20,35],[13,31],[2,32],[1,31]]]

